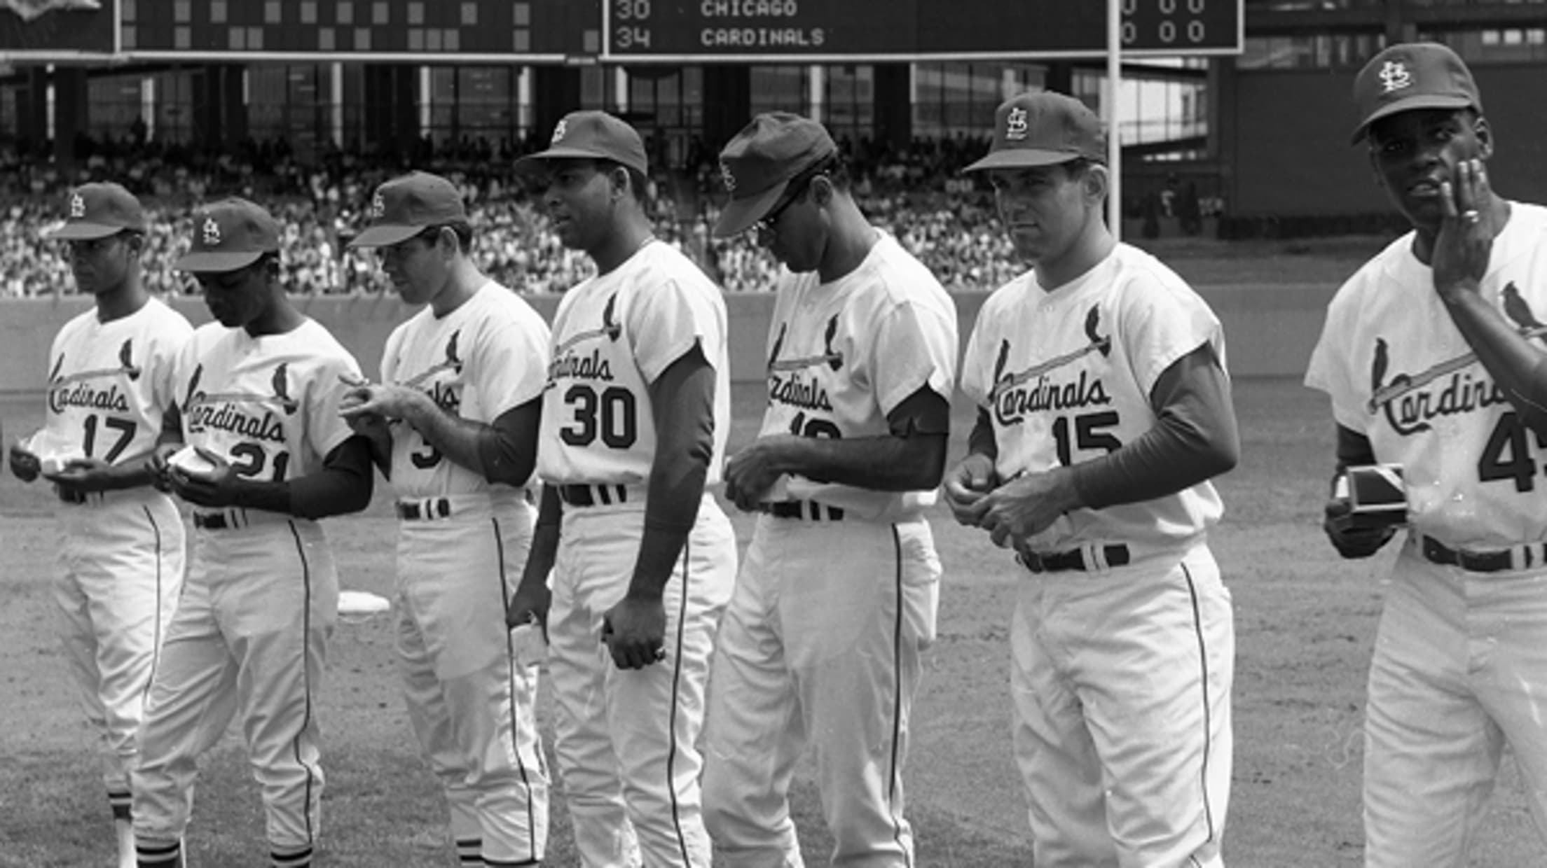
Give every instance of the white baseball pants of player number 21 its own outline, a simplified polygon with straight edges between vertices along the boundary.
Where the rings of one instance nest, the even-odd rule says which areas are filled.
[[[135,782],[135,837],[175,848],[193,808],[200,754],[232,715],[261,788],[275,865],[303,863],[320,831],[316,695],[339,578],[316,522],[227,508],[200,530],[183,599],[150,687]]]

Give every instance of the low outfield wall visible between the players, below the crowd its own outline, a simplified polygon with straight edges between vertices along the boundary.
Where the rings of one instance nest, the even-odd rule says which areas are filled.
[[[1310,358],[1310,348],[1321,331],[1323,310],[1332,298],[1327,286],[1204,287],[1200,292],[1225,326],[1230,371],[1236,377],[1298,377]],[[961,340],[967,343],[985,293],[956,295]],[[302,310],[328,326],[367,374],[374,374],[391,327],[408,315],[394,297],[314,297],[297,300]],[[558,306],[557,295],[531,297],[548,320]],[[726,297],[730,315],[730,375],[738,381],[763,377],[767,323],[774,312],[772,293]],[[0,300],[0,395],[17,397],[42,392],[46,377],[48,346],[71,317],[91,306],[77,295],[57,298]],[[179,297],[172,306],[193,323],[209,321],[200,297]]]

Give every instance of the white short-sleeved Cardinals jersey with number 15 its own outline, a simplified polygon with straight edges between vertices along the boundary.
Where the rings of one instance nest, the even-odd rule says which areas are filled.
[[[962,391],[993,420],[1001,479],[1072,466],[1156,425],[1160,374],[1210,344],[1225,361],[1208,304],[1154,256],[1118,244],[1084,275],[1044,290],[1033,272],[984,303],[962,361]],[[1036,551],[1128,542],[1168,548],[1219,520],[1210,482],[1103,510],[1072,510],[1030,539]]]

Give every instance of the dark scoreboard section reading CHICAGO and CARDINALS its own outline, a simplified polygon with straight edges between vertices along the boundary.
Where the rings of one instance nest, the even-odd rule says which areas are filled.
[[[1239,54],[1242,0],[1120,0],[1123,51]],[[865,62],[1106,53],[1101,0],[603,0],[603,60]]]

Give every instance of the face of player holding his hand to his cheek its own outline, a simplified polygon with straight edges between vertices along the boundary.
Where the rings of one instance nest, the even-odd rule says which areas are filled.
[[[1488,159],[1488,122],[1470,110],[1416,108],[1381,117],[1369,128],[1369,161],[1397,209],[1420,227],[1443,216],[1440,182],[1463,159]]]

